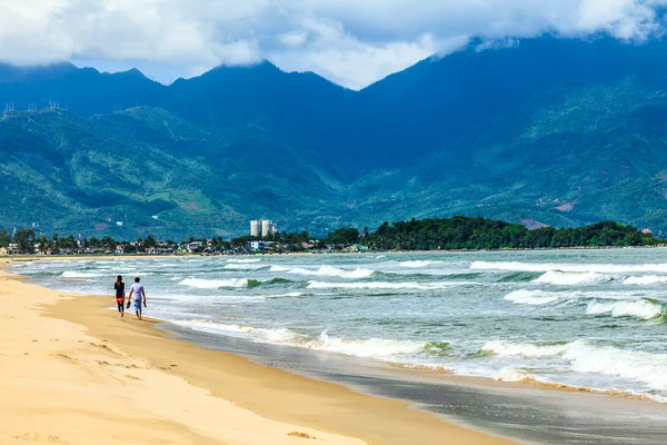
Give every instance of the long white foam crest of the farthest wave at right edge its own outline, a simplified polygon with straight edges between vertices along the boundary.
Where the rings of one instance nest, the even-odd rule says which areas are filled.
[[[517,263],[517,261],[474,261],[471,269],[510,271],[573,271],[573,273],[665,273],[667,264],[574,264],[574,263]]]

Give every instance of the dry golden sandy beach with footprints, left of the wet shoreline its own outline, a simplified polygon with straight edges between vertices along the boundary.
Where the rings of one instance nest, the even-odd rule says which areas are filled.
[[[0,281],[0,443],[510,443],[169,338],[111,297]]]

